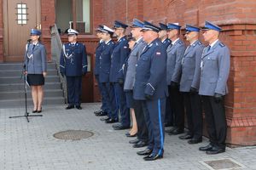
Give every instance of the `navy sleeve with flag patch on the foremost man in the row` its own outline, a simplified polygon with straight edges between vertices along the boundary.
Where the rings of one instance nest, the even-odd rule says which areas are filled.
[[[148,79],[144,94],[154,95],[155,88],[165,75],[166,71],[166,50],[158,46],[151,57],[150,77]]]

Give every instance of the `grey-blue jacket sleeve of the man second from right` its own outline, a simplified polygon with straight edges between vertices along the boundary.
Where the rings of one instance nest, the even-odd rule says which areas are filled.
[[[203,49],[205,47],[203,45],[199,46],[198,48],[195,49],[195,73],[193,77],[193,81],[191,84],[192,88],[199,89],[199,84],[200,84],[200,77],[201,77],[201,55],[203,52]]]

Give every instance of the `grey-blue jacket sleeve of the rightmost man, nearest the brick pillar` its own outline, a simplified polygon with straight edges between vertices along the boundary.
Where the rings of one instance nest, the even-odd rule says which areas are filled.
[[[230,75],[230,50],[227,47],[221,47],[218,56],[218,82],[215,88],[215,93],[226,94],[226,84]]]

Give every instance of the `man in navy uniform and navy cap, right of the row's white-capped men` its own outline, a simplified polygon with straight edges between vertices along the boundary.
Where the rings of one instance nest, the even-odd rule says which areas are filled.
[[[125,37],[125,29],[127,25],[115,20],[114,21],[114,34],[117,36],[118,41],[113,48],[111,56],[111,69],[109,75],[109,81],[113,83],[113,91],[115,96],[116,109],[114,114],[118,115],[120,112],[121,120],[119,123],[113,125],[114,130],[122,130],[130,128],[130,111],[126,105],[126,96],[124,92],[124,74],[123,65],[128,59],[130,54],[130,48],[128,41]]]

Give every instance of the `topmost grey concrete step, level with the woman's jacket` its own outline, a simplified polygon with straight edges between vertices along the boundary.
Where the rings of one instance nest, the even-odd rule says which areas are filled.
[[[51,62],[47,63],[47,70],[55,70],[56,64]],[[3,63],[0,64],[0,71],[16,70],[23,71],[23,63]]]

